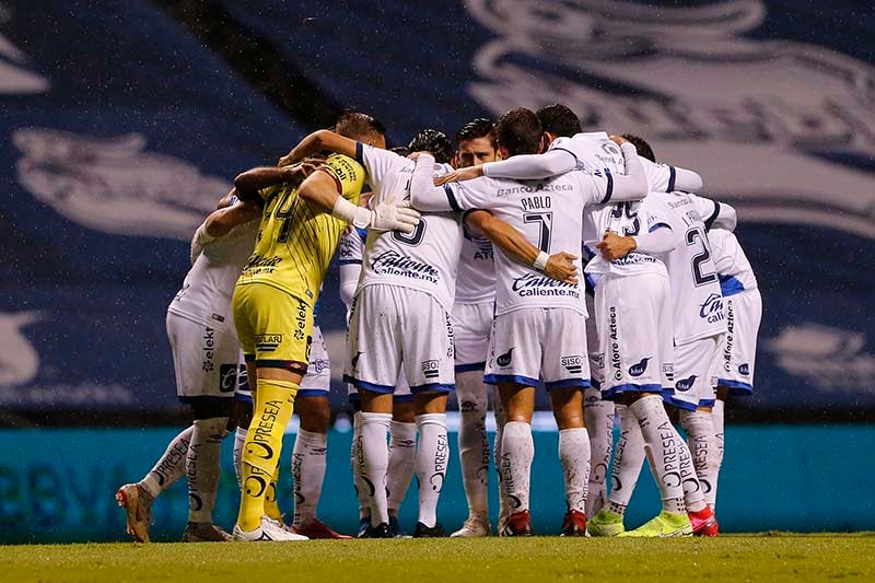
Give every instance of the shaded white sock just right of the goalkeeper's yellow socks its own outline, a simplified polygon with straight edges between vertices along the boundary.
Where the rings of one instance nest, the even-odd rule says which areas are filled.
[[[316,520],[316,506],[325,481],[328,435],[298,430],[292,451],[294,479],[294,526],[305,527]]]

